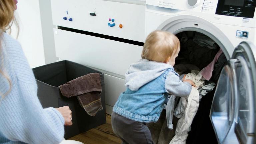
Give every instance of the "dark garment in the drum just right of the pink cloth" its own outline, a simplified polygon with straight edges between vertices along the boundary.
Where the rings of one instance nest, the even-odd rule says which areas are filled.
[[[224,55],[224,53],[222,53],[214,65],[214,69],[212,71],[212,77],[211,77],[210,81],[213,81],[215,83],[218,82],[221,70],[224,67],[224,65],[226,65],[226,64],[227,64],[227,58]]]

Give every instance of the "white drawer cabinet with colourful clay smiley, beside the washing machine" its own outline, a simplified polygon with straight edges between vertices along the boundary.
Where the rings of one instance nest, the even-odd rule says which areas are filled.
[[[145,5],[135,4],[143,1],[51,0],[56,57],[58,60],[70,60],[104,72],[108,114],[112,113],[120,93],[125,90],[124,74],[127,68],[141,58],[142,51],[141,45],[115,39],[143,45]],[[65,17],[66,20],[63,19]],[[115,23],[115,26],[110,27],[108,23]],[[64,30],[62,27],[87,34]]]

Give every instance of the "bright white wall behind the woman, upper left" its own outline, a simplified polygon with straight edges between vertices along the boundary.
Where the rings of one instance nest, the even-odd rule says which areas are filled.
[[[42,25],[40,18],[39,0],[18,0],[16,18],[20,26],[18,41],[30,66],[37,67],[45,64]],[[12,35],[17,31],[12,26]]]

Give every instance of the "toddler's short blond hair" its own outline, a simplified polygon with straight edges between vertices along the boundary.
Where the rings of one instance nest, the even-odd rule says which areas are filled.
[[[155,30],[146,38],[141,57],[151,61],[165,62],[179,49],[180,41],[174,34]]]

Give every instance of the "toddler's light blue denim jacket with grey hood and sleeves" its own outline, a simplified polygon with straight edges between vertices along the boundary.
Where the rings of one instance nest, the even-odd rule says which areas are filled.
[[[127,89],[120,94],[113,111],[140,122],[156,122],[168,94],[184,97],[192,88],[179,79],[173,66],[147,59],[129,66],[125,86]]]

